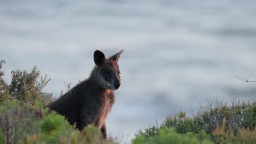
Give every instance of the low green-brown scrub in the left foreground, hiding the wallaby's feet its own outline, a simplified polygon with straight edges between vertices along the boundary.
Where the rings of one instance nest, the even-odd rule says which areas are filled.
[[[80,132],[65,117],[18,100],[0,103],[0,142],[4,143],[115,143],[103,140],[97,127]],[[3,138],[4,137],[4,138]]]

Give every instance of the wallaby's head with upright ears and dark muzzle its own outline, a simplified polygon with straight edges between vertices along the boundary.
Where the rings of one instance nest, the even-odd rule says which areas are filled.
[[[92,70],[91,77],[104,89],[117,90],[121,85],[118,59],[124,50],[106,58],[104,53],[96,50],[94,52],[94,63],[96,67]]]

